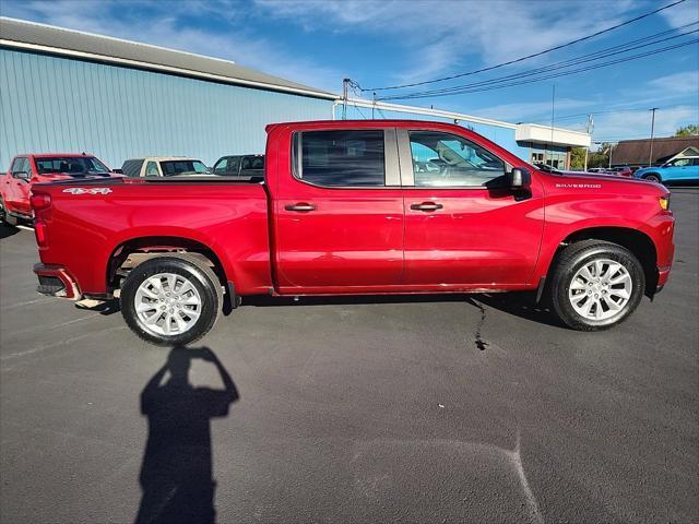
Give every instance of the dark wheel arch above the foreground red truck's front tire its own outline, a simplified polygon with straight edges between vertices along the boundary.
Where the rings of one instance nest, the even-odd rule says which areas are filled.
[[[643,266],[645,295],[653,297],[657,285],[657,250],[651,237],[643,231],[623,226],[589,227],[570,233],[558,246],[548,269],[547,281],[555,270],[559,253],[564,248],[581,240],[602,240],[628,249]]]

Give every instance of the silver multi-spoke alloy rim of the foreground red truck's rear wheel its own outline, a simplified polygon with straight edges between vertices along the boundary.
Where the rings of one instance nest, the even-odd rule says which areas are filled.
[[[139,323],[156,335],[179,335],[199,320],[202,299],[182,275],[158,273],[141,283],[133,298]]]

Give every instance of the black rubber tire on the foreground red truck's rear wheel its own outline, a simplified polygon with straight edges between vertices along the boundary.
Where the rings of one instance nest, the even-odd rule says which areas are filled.
[[[139,286],[158,273],[173,273],[187,278],[201,297],[199,318],[183,333],[165,335],[144,327],[135,311]],[[223,289],[216,274],[201,260],[188,254],[156,257],[137,265],[127,276],[119,296],[121,314],[129,327],[141,338],[158,346],[190,344],[211,331],[223,306]]]

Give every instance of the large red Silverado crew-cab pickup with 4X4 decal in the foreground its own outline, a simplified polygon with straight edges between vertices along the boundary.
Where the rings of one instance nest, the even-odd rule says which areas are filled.
[[[155,344],[239,297],[536,290],[567,325],[617,324],[667,281],[657,183],[537,170],[459,126],[269,126],[264,178],[34,188],[39,293],[107,299]]]

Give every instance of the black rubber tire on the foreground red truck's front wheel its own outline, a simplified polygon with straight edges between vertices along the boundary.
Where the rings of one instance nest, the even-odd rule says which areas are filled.
[[[596,259],[620,263],[631,278],[631,293],[618,313],[605,320],[590,320],[579,314],[571,305],[569,288],[577,272]],[[645,290],[645,273],[639,260],[628,249],[602,240],[583,240],[566,247],[555,261],[548,301],[562,323],[578,331],[601,331],[624,322],[638,307]],[[605,291],[606,293],[606,291]]]

